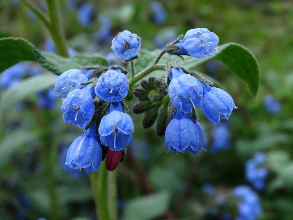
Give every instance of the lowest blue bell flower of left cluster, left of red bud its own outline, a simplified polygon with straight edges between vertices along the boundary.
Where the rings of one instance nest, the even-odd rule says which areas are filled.
[[[84,131],[70,145],[65,165],[73,170],[83,168],[88,173],[98,172],[102,161],[102,148],[97,140],[96,123]]]

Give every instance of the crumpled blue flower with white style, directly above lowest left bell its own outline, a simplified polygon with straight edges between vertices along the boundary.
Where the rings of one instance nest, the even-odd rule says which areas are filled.
[[[84,128],[93,117],[95,105],[90,92],[83,89],[74,89],[64,99],[61,110],[63,111],[65,124]]]

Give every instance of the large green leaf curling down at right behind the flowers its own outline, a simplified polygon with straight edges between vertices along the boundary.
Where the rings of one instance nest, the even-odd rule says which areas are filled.
[[[134,61],[135,72],[137,73],[149,65],[152,65],[159,53],[160,50],[140,50],[138,59]],[[217,52],[213,56],[206,58],[197,59],[185,55],[183,55],[183,57],[184,60],[175,55],[164,54],[159,61],[159,64],[165,64],[167,60],[175,60],[186,69],[194,69],[197,65],[209,59],[219,60],[237,77],[246,82],[254,96],[258,92],[260,78],[258,62],[251,51],[240,44],[227,43],[217,46]],[[165,72],[155,71],[151,73],[151,75],[164,77]]]

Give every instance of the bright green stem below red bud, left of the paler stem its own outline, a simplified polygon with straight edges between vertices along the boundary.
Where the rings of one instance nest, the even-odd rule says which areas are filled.
[[[106,170],[105,160],[102,161],[99,171],[90,175],[96,214],[99,220],[110,220],[107,197],[107,175],[108,171]]]

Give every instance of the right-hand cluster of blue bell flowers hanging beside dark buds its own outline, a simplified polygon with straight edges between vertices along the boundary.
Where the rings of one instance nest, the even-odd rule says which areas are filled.
[[[165,143],[167,150],[175,153],[188,150],[196,154],[205,149],[206,134],[200,123],[189,115],[192,109],[201,107],[207,119],[219,126],[220,118],[228,119],[236,106],[227,92],[185,72],[179,66],[167,71],[171,80],[168,94],[176,111],[167,126]]]

